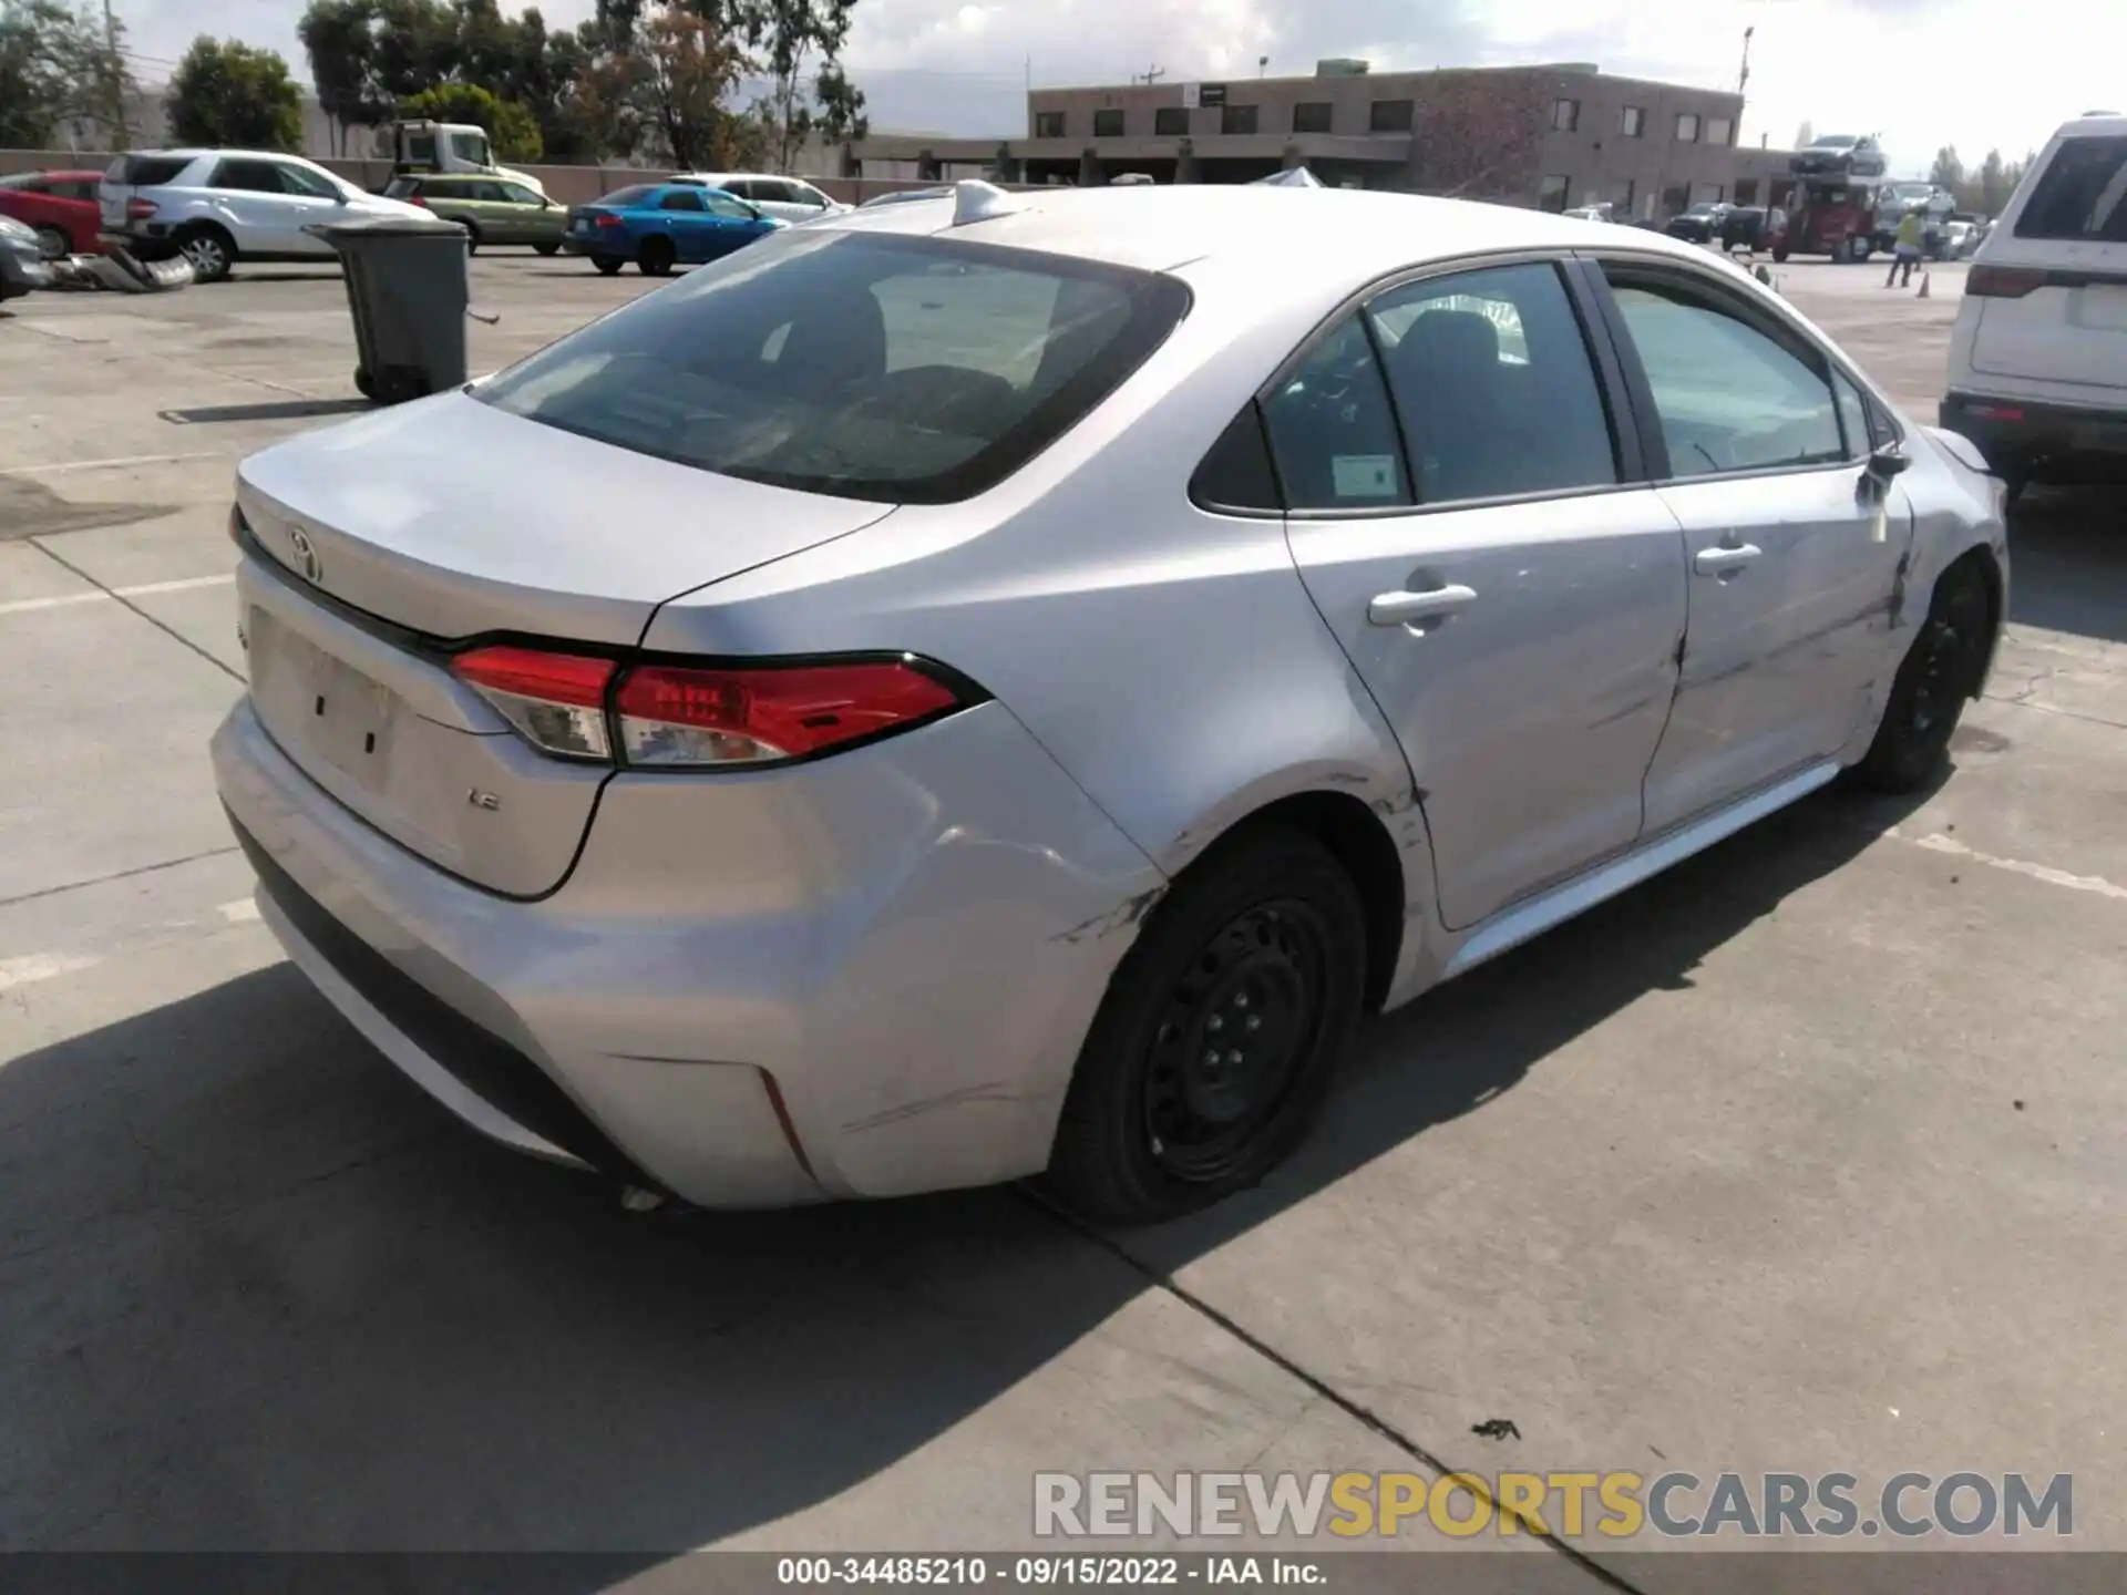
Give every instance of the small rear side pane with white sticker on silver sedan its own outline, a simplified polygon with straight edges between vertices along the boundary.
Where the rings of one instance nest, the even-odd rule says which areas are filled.
[[[1291,510],[1389,510],[1410,504],[1389,387],[1359,313],[1308,351],[1263,402],[1270,451]]]

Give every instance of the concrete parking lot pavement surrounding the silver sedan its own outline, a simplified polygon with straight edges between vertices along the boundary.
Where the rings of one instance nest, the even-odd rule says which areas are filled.
[[[1923,421],[1959,281],[1782,268]],[[481,255],[474,368],[644,287]],[[315,270],[0,310],[0,1548],[1002,1548],[1093,1467],[2065,1472],[2127,1548],[2127,496],[2019,510],[1944,787],[1378,1023],[1244,1199],[638,1219],[340,1023],[215,802],[230,472],[351,368]]]

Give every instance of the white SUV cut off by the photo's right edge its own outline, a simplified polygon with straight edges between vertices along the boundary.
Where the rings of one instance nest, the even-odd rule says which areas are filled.
[[[1942,425],[2010,491],[2127,481],[2127,117],[2065,123],[1972,257]]]

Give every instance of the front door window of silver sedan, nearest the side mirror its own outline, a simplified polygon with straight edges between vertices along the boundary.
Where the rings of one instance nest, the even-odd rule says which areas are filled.
[[[1610,268],[1672,476],[1844,459],[1821,357],[1755,325],[1712,291]]]

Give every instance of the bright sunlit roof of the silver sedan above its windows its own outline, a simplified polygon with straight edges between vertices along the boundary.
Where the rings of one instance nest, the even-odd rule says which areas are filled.
[[[847,211],[808,225],[849,232],[951,234],[1053,255],[1172,270],[1219,255],[1276,259],[1283,270],[1366,281],[1400,266],[1508,249],[1587,249],[1608,223],[1474,200],[1257,183],[1034,189],[1012,211],[953,225],[953,196]],[[1636,249],[1693,262],[1706,251],[1638,228],[1610,228]]]

